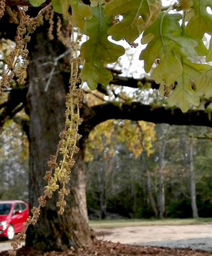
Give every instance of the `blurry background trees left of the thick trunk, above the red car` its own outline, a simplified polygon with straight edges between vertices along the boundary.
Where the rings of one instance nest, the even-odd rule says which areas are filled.
[[[0,199],[28,201],[28,140],[20,125],[7,121],[0,138]]]

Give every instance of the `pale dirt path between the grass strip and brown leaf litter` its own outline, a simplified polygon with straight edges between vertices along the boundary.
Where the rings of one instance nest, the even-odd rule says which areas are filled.
[[[190,247],[212,252],[212,224],[98,228],[96,229],[96,235],[98,239],[102,238],[121,244]]]

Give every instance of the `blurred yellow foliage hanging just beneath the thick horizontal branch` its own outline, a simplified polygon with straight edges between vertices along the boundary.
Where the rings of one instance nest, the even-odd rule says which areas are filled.
[[[154,123],[145,121],[111,119],[102,122],[89,134],[85,160],[93,161],[95,150],[101,153],[104,146],[108,147],[110,156],[114,156],[117,142],[125,144],[135,158],[138,158],[143,150],[150,156],[154,152],[152,142],[156,139],[154,126]]]

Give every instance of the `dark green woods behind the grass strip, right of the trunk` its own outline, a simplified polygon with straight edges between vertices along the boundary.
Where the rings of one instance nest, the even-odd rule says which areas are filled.
[[[190,183],[190,164],[188,162],[185,164],[183,161],[184,149],[186,148],[181,144],[181,139],[183,138],[186,144],[189,145],[190,135],[188,134],[188,137],[184,137],[186,127],[167,127],[165,125],[163,130],[166,131],[166,129],[169,129],[169,133],[163,134],[166,140],[166,151],[163,159],[165,217],[191,218],[193,217],[192,200],[188,186]],[[198,133],[202,133],[202,136],[204,136],[204,129],[205,127],[197,127]],[[105,158],[104,150],[108,150],[107,146],[102,149],[102,152],[99,150],[93,152],[94,158],[87,165],[89,217],[100,217],[96,173],[99,171],[99,168],[106,171],[108,161],[112,165],[112,173],[110,173],[106,180],[109,185],[106,203],[107,218],[157,217],[159,211],[156,203],[158,195],[158,161],[159,150],[161,150],[161,137],[158,130],[156,127],[156,137],[159,139],[156,139],[153,143],[152,149],[154,153],[149,158],[147,158],[146,151],[144,150],[142,155],[135,159],[125,144],[119,144],[118,142],[115,143],[116,156]],[[192,134],[193,136],[195,135],[194,132]],[[208,131],[207,135],[209,136]],[[200,217],[209,217],[208,211],[211,209],[211,193],[209,192],[211,186],[211,167],[207,165],[201,166],[202,162],[200,163],[200,159],[204,158],[204,161],[210,162],[210,156],[203,156],[201,148],[203,145],[211,145],[211,140],[203,138],[206,137],[201,137],[201,139],[194,139],[193,137],[195,140],[193,148],[195,158],[193,163],[196,177],[194,182],[197,188],[196,204],[200,211]],[[188,155],[189,152],[186,153],[186,156]],[[98,161],[101,159],[102,161]],[[131,169],[130,172],[129,169]],[[207,175],[207,178],[205,178],[205,175]],[[104,176],[102,179],[106,179],[106,177]],[[203,192],[204,186],[205,192]]]

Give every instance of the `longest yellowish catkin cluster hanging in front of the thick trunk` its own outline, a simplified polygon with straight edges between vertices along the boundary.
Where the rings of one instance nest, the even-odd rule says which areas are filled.
[[[60,160],[59,164],[56,161],[49,162],[52,169],[54,168],[54,175],[50,177],[52,175],[50,171],[45,176],[45,179],[48,179],[48,185],[44,188],[45,194],[51,196],[60,187],[58,191],[59,200],[56,206],[59,207],[58,213],[61,215],[66,205],[64,197],[70,193],[70,190],[66,188],[66,184],[70,181],[71,168],[75,163],[73,156],[79,151],[79,148],[76,146],[77,141],[81,138],[81,135],[78,133],[78,127],[83,121],[79,117],[79,108],[82,106],[84,93],[76,86],[80,81],[78,77],[77,43],[78,36],[76,41],[74,41],[74,31],[72,31],[70,92],[66,96],[65,129],[60,135],[61,140],[58,146],[58,152],[62,155],[62,160]]]

